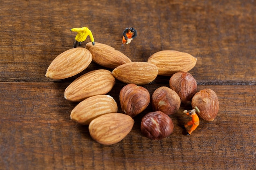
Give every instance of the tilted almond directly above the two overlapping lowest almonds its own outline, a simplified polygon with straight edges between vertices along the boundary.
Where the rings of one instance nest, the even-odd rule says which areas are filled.
[[[65,99],[72,102],[94,96],[105,95],[115,85],[115,77],[105,69],[94,70],[75,79],[64,92]]]

